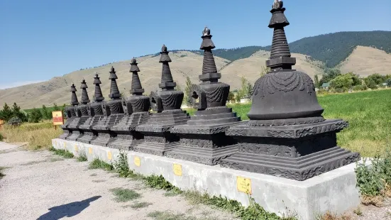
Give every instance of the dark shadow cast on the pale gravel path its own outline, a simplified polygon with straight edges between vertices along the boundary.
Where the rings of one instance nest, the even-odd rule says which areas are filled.
[[[71,202],[68,204],[62,204],[57,207],[51,207],[48,213],[43,214],[37,220],[61,219],[65,216],[67,217],[76,216],[84,209],[89,207],[90,202],[94,202],[100,197],[101,196],[91,197],[89,199],[84,199],[80,202]]]

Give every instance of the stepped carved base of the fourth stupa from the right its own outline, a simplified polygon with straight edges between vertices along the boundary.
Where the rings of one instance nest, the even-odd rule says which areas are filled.
[[[128,131],[128,133],[118,133],[116,137],[110,138],[109,148],[119,150],[133,150],[133,146],[143,143],[143,135],[136,131]]]

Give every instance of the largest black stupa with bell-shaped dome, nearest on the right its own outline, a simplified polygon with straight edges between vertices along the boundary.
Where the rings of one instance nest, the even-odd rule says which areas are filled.
[[[246,125],[226,131],[238,139],[239,153],[221,161],[224,167],[307,180],[353,163],[358,153],[336,146],[336,133],[348,126],[341,119],[325,120],[312,79],[292,70],[284,27],[289,25],[282,1],[272,6],[271,71],[255,82]]]

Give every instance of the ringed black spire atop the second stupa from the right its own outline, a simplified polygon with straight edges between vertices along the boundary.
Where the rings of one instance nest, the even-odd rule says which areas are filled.
[[[202,31],[201,50],[204,50],[204,60],[202,61],[202,75],[199,76],[201,81],[217,82],[221,75],[217,73],[216,63],[214,62],[212,49],[216,48],[211,40],[211,30],[205,26]]]

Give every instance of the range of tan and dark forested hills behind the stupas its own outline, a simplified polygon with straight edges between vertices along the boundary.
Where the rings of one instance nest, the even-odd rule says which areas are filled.
[[[368,35],[369,34],[369,35]],[[288,36],[289,37],[289,36]],[[391,31],[371,32],[341,32],[303,38],[290,44],[292,56],[297,58],[294,69],[307,72],[312,78],[321,75],[324,67],[339,67],[343,72],[354,72],[367,76],[378,72],[382,75],[391,74]],[[221,82],[231,84],[231,89],[241,87],[241,77],[251,83],[258,79],[260,70],[269,57],[270,47],[248,46],[233,49],[214,50],[216,65],[221,72]],[[170,53],[172,76],[177,84],[185,89],[185,80],[189,76],[193,83],[198,82],[202,71],[202,51],[174,50]],[[145,55],[138,57],[139,73],[145,94],[158,89],[162,65],[159,56]],[[131,87],[130,60],[123,60],[101,67],[70,72],[62,77],[53,77],[46,82],[28,84],[21,87],[0,90],[0,106],[4,102],[16,102],[22,109],[31,109],[56,103],[68,104],[70,101],[69,87],[72,82],[77,84],[86,79],[89,85],[89,95],[92,99],[93,76],[99,72],[101,88],[106,100],[109,99],[109,70],[114,66],[119,80],[119,89],[126,96]],[[336,63],[336,65],[334,65]],[[80,96],[80,90],[77,92]]]

